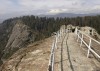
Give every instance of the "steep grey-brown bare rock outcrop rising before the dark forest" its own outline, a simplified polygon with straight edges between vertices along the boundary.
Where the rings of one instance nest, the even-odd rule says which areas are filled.
[[[35,39],[34,32],[21,21],[17,21],[10,34],[7,45],[4,49],[2,60],[9,57],[13,52],[25,46],[28,42],[33,42]]]

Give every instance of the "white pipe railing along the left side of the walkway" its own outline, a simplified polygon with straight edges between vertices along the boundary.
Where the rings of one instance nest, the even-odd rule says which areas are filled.
[[[54,40],[52,43],[51,54],[49,59],[49,65],[47,71],[54,71],[54,62],[55,62],[55,49],[57,49],[58,41],[61,41],[62,36],[64,35],[65,29],[60,29],[56,33],[54,33]]]

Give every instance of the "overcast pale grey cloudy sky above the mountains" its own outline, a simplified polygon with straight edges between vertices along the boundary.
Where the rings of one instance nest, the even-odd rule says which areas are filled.
[[[0,0],[0,19],[31,14],[98,12],[100,0]]]

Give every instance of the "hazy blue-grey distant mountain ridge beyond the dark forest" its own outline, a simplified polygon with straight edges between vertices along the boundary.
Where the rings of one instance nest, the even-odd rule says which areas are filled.
[[[0,23],[2,23],[4,20],[9,19],[9,18],[25,16],[25,15],[14,16],[14,14],[9,14],[9,15],[5,15],[4,18],[0,18]],[[57,17],[65,18],[65,17],[67,17],[67,18],[74,18],[74,17],[84,17],[84,16],[97,16],[97,15],[100,15],[100,13],[89,13],[89,14],[58,13],[58,14],[41,14],[41,15],[31,14],[31,15],[39,16],[39,17],[54,17],[54,18],[57,18]]]

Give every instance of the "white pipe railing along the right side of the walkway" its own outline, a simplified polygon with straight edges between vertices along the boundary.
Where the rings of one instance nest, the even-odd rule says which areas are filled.
[[[97,44],[100,45],[100,42],[93,39],[92,37],[90,37],[89,35],[86,35],[85,33],[83,33],[82,31],[78,30],[76,28],[76,31],[75,31],[76,35],[77,35],[77,42],[79,41],[79,39],[81,40],[81,44],[80,44],[80,47],[82,46],[82,43],[85,44],[85,46],[88,48],[88,53],[87,53],[87,57],[89,57],[89,54],[90,52],[92,52],[93,54],[95,54],[98,58],[100,58],[100,55],[91,48],[91,45],[92,45],[92,41],[96,42]],[[87,42],[83,39],[84,37],[87,37],[89,38],[89,44],[87,44]]]

